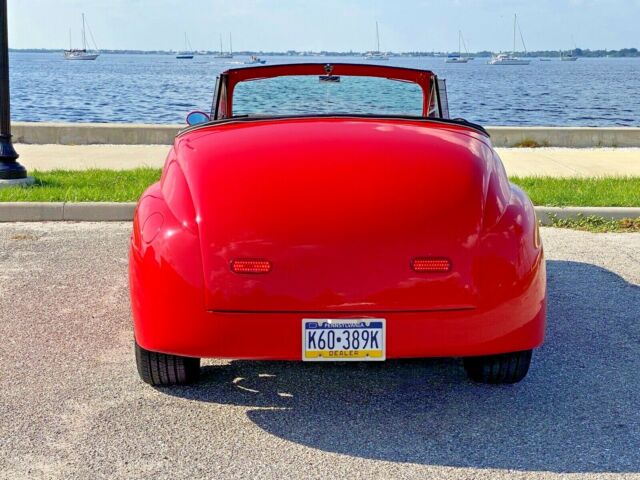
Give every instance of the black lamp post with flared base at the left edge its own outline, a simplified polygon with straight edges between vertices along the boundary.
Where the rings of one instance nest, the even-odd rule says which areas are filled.
[[[27,177],[27,170],[18,163],[18,154],[11,143],[8,36],[7,0],[0,0],[0,180]]]

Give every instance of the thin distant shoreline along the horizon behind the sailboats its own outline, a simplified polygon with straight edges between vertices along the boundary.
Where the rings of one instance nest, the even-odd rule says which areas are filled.
[[[9,52],[12,53],[62,53],[64,50],[61,48],[10,48]],[[582,58],[638,58],[640,57],[640,51],[637,48],[623,48],[620,50],[582,50],[575,49],[574,55],[576,57]],[[175,55],[175,51],[169,50],[100,50],[101,54],[126,54],[126,55]],[[199,55],[215,55],[218,54],[218,51],[213,50],[200,50],[196,52]],[[320,52],[304,52],[297,50],[289,50],[286,52],[265,52],[265,51],[253,51],[253,50],[245,50],[245,51],[237,51],[233,52],[234,55],[238,56],[249,56],[249,55],[264,55],[264,56],[283,56],[283,57],[318,57],[318,56],[327,56],[327,57],[358,57],[364,55],[366,52],[329,52],[329,51],[320,51]],[[447,52],[386,52],[391,56],[396,57],[444,57],[447,55]],[[494,52],[489,52],[483,50],[481,52],[469,52],[466,56],[471,57],[491,57]],[[533,52],[516,52],[518,56],[521,57],[532,57],[532,58],[556,58],[560,56],[559,51],[551,51],[551,50],[539,50]]]

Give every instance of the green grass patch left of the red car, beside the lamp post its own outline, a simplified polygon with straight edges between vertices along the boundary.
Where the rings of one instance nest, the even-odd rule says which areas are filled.
[[[160,179],[159,168],[29,172],[35,184],[0,189],[0,202],[135,202]]]

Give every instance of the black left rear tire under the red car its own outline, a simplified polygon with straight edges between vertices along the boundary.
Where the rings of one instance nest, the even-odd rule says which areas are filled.
[[[199,358],[150,352],[137,342],[136,364],[140,378],[154,387],[186,385],[200,376]]]

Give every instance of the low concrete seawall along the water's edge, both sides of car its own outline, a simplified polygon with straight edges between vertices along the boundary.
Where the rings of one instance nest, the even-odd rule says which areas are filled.
[[[13,122],[13,141],[35,145],[171,145],[186,125]],[[493,145],[523,142],[565,148],[640,147],[638,127],[487,126]]]

